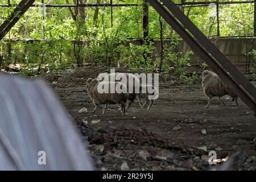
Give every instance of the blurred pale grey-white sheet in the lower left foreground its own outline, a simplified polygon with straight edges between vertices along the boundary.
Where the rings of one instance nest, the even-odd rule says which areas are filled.
[[[92,169],[51,89],[43,81],[0,74],[0,170]]]

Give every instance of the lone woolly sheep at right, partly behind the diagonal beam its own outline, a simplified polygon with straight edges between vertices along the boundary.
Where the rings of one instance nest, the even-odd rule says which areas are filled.
[[[221,97],[228,94],[232,97],[232,101],[237,100],[237,95],[231,90],[228,85],[226,85],[220,77],[214,72],[205,70],[202,75],[200,76],[202,80],[202,86],[204,89],[205,96],[208,97],[208,104],[205,106],[206,108],[210,105],[210,100],[213,97],[218,97],[218,100],[225,105],[225,102],[221,101]]]

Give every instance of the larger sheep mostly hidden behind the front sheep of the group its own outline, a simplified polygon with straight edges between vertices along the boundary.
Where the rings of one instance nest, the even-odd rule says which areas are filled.
[[[114,80],[110,80],[112,77]],[[139,77],[133,75],[132,73],[100,73],[97,79],[102,80],[102,78],[104,78],[104,80],[107,79],[108,81],[118,81],[126,85],[127,90],[129,90],[129,101],[126,109],[129,109],[137,95],[135,90],[137,86],[139,88]],[[121,78],[126,78],[126,80]],[[132,88],[130,88],[130,86],[132,86]]]

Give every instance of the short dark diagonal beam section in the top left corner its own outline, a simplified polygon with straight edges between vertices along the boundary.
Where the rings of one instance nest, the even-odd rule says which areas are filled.
[[[13,13],[0,26],[0,40],[10,31],[20,17],[28,10],[35,0],[22,0],[19,5],[15,7]]]

